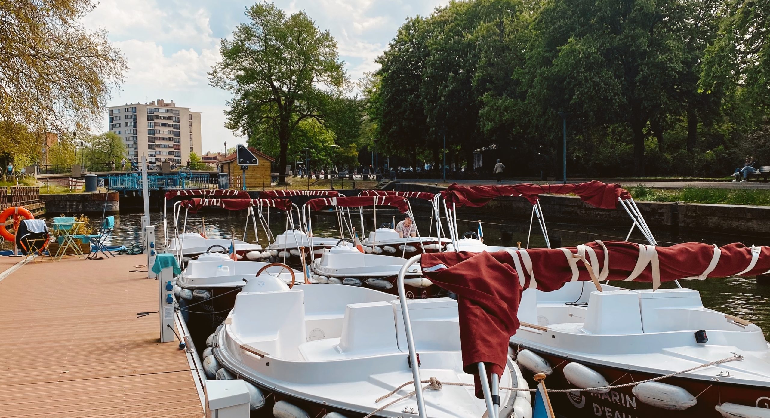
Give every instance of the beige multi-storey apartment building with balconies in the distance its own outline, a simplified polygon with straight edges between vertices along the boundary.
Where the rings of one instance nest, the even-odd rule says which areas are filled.
[[[200,112],[173,100],[110,106],[109,130],[123,139],[130,162],[139,163],[146,155],[152,165],[169,161],[184,166],[190,152],[201,155]]]

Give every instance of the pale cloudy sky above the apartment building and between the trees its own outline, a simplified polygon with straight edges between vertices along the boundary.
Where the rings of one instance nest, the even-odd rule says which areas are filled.
[[[224,127],[228,92],[209,85],[207,72],[219,61],[219,40],[229,37],[251,2],[231,0],[101,0],[85,15],[89,29],[105,29],[129,65],[125,82],[109,105],[174,100],[203,112],[203,152],[223,151],[245,138]],[[430,15],[446,0],[276,0],[287,13],[304,10],[336,38],[340,59],[355,82],[379,68],[374,62],[403,24]],[[107,129],[104,111],[103,129]],[[97,129],[99,131],[99,129]]]

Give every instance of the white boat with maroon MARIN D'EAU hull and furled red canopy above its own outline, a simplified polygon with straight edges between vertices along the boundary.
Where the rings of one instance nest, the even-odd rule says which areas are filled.
[[[517,363],[528,374],[550,375],[549,390],[580,389],[551,395],[563,416],[770,416],[770,346],[762,329],[704,307],[695,290],[659,288],[666,281],[763,274],[770,247],[596,241],[445,252],[420,263],[434,286],[455,289],[461,299],[474,297],[465,286],[484,289],[497,300],[482,306],[517,309],[518,329],[500,327],[494,313],[475,317],[474,329],[502,328],[497,339],[504,341],[513,334]],[[643,281],[652,289],[599,283],[605,280]]]

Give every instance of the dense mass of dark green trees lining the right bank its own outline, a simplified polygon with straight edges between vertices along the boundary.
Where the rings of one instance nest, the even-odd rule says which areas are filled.
[[[446,134],[456,167],[494,149],[515,175],[559,178],[567,111],[568,172],[725,173],[770,123],[768,15],[748,0],[450,2],[377,59],[363,135],[415,168],[440,162]]]

